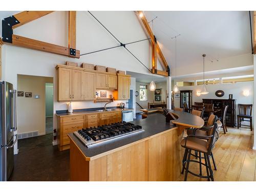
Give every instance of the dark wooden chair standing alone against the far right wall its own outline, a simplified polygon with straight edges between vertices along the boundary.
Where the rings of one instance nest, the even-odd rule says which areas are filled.
[[[251,131],[252,131],[252,104],[238,104],[238,110],[239,110],[239,115],[238,115],[238,129],[243,126],[249,126]],[[244,119],[249,119],[249,120],[244,120]],[[250,125],[245,125],[241,124],[241,121],[249,121]]]

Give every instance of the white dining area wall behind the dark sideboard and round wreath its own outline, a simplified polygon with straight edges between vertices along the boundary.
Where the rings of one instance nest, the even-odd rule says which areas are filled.
[[[184,86],[179,87],[179,90],[193,90],[192,95],[192,103],[194,102],[202,102],[202,99],[228,99],[229,94],[233,94],[233,99],[237,99],[237,104],[253,104],[253,82],[238,82],[238,83],[224,83],[224,84],[208,84],[206,86],[208,90],[208,94],[200,95],[199,97],[196,95],[197,91],[201,90],[202,86]],[[223,97],[217,97],[215,92],[218,90],[224,91]],[[249,96],[246,97],[243,95],[243,91],[248,90]],[[175,107],[180,107],[180,98],[174,99]],[[237,108],[238,110],[238,108]],[[237,111],[238,112],[238,111]]]

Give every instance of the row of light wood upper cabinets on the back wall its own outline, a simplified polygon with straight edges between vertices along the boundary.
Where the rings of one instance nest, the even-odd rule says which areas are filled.
[[[130,98],[131,76],[58,65],[58,101],[94,100],[96,90],[115,90],[114,99]]]

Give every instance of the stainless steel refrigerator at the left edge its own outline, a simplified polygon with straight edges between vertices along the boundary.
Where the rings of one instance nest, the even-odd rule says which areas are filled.
[[[17,142],[16,90],[9,82],[0,82],[0,181],[7,181],[13,170],[13,146]]]

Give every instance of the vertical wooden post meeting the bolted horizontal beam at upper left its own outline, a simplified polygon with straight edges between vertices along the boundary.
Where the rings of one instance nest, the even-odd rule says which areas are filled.
[[[69,11],[69,49],[76,49],[76,11]]]

